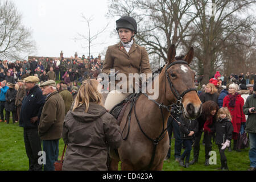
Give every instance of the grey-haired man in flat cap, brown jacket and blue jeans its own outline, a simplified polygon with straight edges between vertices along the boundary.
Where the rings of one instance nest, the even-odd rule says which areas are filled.
[[[43,151],[46,152],[44,171],[54,171],[54,162],[59,156],[59,139],[62,137],[65,104],[56,89],[54,80],[48,80],[40,85],[43,95],[46,96],[38,134],[43,141]]]

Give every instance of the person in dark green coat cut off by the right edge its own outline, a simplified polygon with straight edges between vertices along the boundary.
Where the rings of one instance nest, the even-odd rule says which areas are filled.
[[[249,134],[250,138],[250,169],[249,171],[256,170],[256,84],[253,85],[254,93],[247,97],[245,105],[243,105],[243,113],[248,115],[246,121],[245,131]]]

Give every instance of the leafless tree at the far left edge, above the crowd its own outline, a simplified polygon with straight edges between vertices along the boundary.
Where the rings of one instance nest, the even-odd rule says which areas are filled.
[[[22,24],[22,15],[11,1],[0,2],[0,55],[20,59],[36,49],[31,31]]]

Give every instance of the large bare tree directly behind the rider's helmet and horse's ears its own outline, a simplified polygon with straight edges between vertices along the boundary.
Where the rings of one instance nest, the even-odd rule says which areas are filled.
[[[199,15],[192,10],[192,6],[191,0],[110,0],[107,16],[133,16],[139,25],[136,36],[138,44],[146,47],[148,54],[153,54],[152,57],[159,62],[167,60],[171,44],[179,47],[181,40],[188,36],[189,24]]]

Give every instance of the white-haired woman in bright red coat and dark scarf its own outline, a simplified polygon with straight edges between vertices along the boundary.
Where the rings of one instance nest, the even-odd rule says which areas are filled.
[[[224,97],[223,107],[228,107],[230,114],[232,115],[233,124],[233,136],[234,147],[233,150],[240,151],[237,149],[237,139],[241,130],[241,125],[245,125],[246,119],[245,114],[243,114],[243,98],[237,93],[238,85],[230,84],[228,90],[228,96]]]

